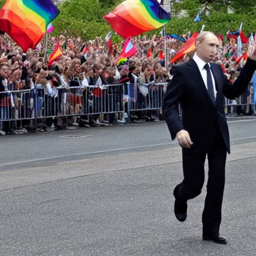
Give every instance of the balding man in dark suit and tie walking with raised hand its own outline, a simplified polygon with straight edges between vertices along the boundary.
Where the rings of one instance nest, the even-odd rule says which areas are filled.
[[[225,244],[226,238],[219,235],[226,152],[230,153],[224,96],[234,99],[246,89],[256,69],[256,51],[255,47],[250,48],[246,64],[231,84],[221,66],[210,63],[218,46],[214,33],[205,31],[198,35],[194,56],[172,67],[173,77],[163,98],[163,112],[171,138],[176,137],[182,147],[184,178],[173,191],[175,216],[184,221],[187,200],[200,194],[207,155],[209,171],[202,238]],[[182,109],[182,122],[178,103]]]

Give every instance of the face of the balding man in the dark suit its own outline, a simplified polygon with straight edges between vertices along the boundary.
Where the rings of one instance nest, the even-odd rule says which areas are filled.
[[[218,38],[214,34],[208,33],[202,41],[197,41],[196,52],[205,62],[210,62],[217,54],[218,46]]]

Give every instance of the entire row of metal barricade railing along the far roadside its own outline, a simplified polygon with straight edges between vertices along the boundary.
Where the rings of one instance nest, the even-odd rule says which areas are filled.
[[[114,115],[127,112],[128,119],[133,114],[146,116],[161,113],[166,83],[126,83],[102,86],[53,87],[50,90],[36,86],[25,90],[0,92],[0,122],[30,120],[37,122],[58,117],[83,119],[92,115]],[[251,90],[246,90],[235,101],[225,99],[226,114],[256,114]],[[141,114],[142,113],[142,114]],[[179,106],[181,116],[181,107]],[[27,123],[27,121],[26,121]],[[32,123],[32,124],[31,124]]]

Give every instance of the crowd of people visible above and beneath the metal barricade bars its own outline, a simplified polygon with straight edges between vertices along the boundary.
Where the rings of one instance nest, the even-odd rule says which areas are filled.
[[[184,37],[186,35],[183,35]],[[154,35],[152,38],[144,36],[137,36],[132,38],[132,43],[137,49],[136,54],[127,61],[122,62],[116,66],[116,58],[122,50],[123,43],[106,43],[101,37],[96,37],[94,40],[83,41],[80,37],[74,38],[69,36],[66,32],[59,36],[49,36],[47,40],[47,56],[54,49],[56,42],[60,42],[60,47],[63,54],[53,63],[48,65],[47,58],[44,57],[45,40],[43,39],[36,47],[36,49],[29,49],[26,53],[15,44],[11,38],[6,35],[0,35],[0,92],[3,91],[20,91],[25,89],[43,89],[47,98],[54,98],[56,96],[56,87],[64,86],[75,87],[80,86],[87,88],[90,85],[98,86],[123,84],[123,83],[166,83],[171,79],[171,66],[166,69],[164,66],[164,59],[162,52],[164,49],[164,40],[162,36]],[[224,39],[225,41],[225,39]],[[236,60],[236,42],[233,38],[224,42],[220,39],[219,54],[215,61],[220,63],[225,74],[230,80],[234,80],[241,70],[245,59],[237,63]],[[167,37],[167,60],[172,57],[182,48],[183,42],[177,38]],[[243,45],[243,52],[246,51],[247,45]],[[84,50],[86,48],[86,51]],[[191,58],[193,52],[185,54],[179,62],[187,61]],[[179,63],[178,62],[178,63]],[[177,64],[177,63],[175,63]],[[165,87],[162,87],[164,92]],[[93,89],[86,90],[86,93],[93,95]],[[15,94],[14,105],[16,108],[22,107],[18,93]],[[24,133],[28,128],[31,128],[31,123],[27,120],[22,121],[4,121],[9,119],[6,117],[6,108],[10,107],[6,101],[7,94],[0,93],[0,133]],[[51,101],[54,104],[55,101]],[[236,99],[236,101],[227,103],[251,103],[252,89],[248,88],[244,98]],[[21,106],[17,106],[20,104]],[[76,105],[78,109],[73,109],[75,113],[79,112],[79,104]],[[83,107],[83,106],[81,106]],[[49,108],[49,106],[45,106]],[[52,105],[50,106],[52,108]],[[229,109],[229,110],[228,110]],[[4,111],[3,111],[4,110]],[[31,110],[31,109],[30,109]],[[230,112],[227,108],[226,113]],[[236,108],[231,112],[240,113],[242,109]],[[82,113],[85,113],[84,111]],[[141,115],[139,111],[132,115],[134,119],[145,119],[150,121],[157,120],[161,111],[148,111]],[[251,113],[251,109],[247,107],[244,113]],[[69,118],[70,119],[70,118]],[[68,119],[68,120],[69,120]],[[88,125],[109,125],[116,121],[125,122],[125,116],[116,114],[107,114],[103,117],[95,114],[90,116]],[[75,115],[71,118],[71,124],[79,123],[79,118]],[[85,124],[85,122],[83,123]],[[46,118],[44,122],[44,130],[56,129],[58,126],[57,120],[54,118]]]

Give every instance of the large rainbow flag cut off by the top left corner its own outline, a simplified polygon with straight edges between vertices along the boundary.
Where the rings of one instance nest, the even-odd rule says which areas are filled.
[[[35,48],[58,14],[52,0],[7,0],[0,10],[0,30],[26,52]]]

